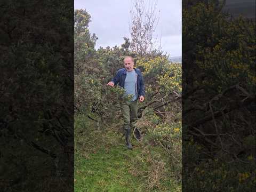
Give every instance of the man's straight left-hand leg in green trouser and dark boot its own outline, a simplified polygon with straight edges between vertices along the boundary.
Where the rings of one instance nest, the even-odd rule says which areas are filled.
[[[130,106],[128,102],[121,103],[121,111],[124,119],[124,131],[125,131],[125,141],[128,149],[132,149],[131,145],[131,125],[130,125]]]

